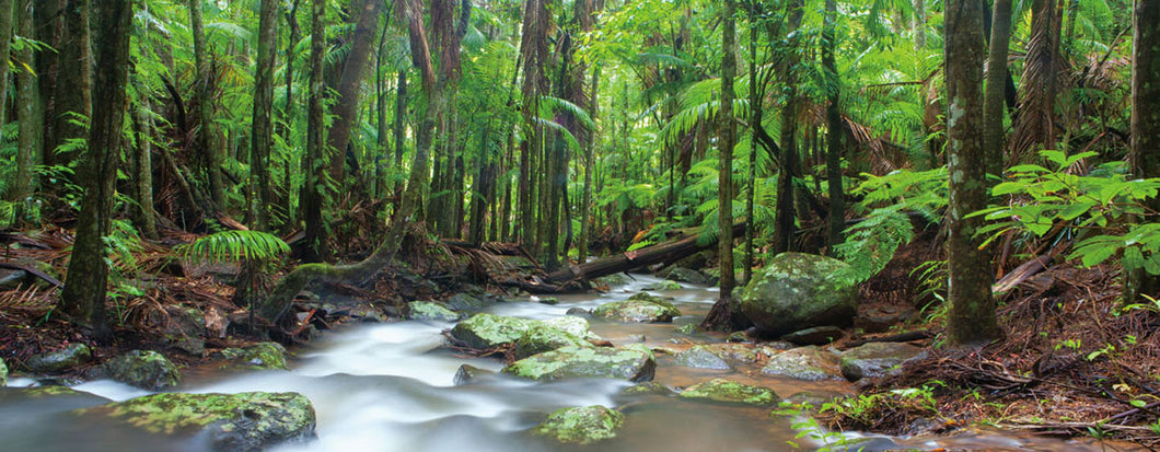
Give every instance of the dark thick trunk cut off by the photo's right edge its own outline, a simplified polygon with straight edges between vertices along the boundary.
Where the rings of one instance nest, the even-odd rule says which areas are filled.
[[[1136,36],[1132,56],[1132,150],[1129,160],[1134,177],[1160,177],[1160,2],[1136,0]],[[1160,211],[1153,198],[1150,207]],[[1154,223],[1155,218],[1143,221]],[[1124,272],[1123,301],[1136,302],[1141,296],[1157,297],[1160,277],[1144,269]]]

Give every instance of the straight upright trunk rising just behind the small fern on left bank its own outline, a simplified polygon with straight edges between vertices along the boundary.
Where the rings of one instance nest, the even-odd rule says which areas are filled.
[[[274,64],[277,54],[277,1],[262,0],[258,21],[258,65],[254,70],[254,116],[251,124],[249,184],[254,226],[270,231],[270,148],[274,146]]]

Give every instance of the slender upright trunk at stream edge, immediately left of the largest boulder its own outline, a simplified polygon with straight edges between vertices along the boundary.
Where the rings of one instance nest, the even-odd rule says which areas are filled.
[[[732,329],[733,286],[733,146],[737,145],[737,124],[733,118],[733,76],[737,73],[737,3],[725,0],[722,12],[722,96],[717,112],[719,133],[717,166],[717,257],[720,272],[720,299],[713,304],[701,323],[706,329]]]

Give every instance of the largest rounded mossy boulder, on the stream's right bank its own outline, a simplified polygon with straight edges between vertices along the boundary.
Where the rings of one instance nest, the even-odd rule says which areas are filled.
[[[757,330],[777,337],[802,328],[846,327],[856,314],[857,285],[842,261],[782,253],[741,290],[739,308]]]

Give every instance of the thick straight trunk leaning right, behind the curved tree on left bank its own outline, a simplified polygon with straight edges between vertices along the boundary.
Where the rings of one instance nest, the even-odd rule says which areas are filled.
[[[358,110],[358,95],[362,94],[362,81],[370,59],[370,49],[375,43],[375,31],[378,30],[378,16],[383,9],[383,0],[364,0],[358,23],[355,25],[350,42],[350,53],[342,67],[342,79],[339,81],[338,99],[334,102],[334,123],[331,124],[328,143],[334,148],[331,156],[331,178],[343,187],[346,177],[346,155],[350,143],[350,130],[355,126]]]

